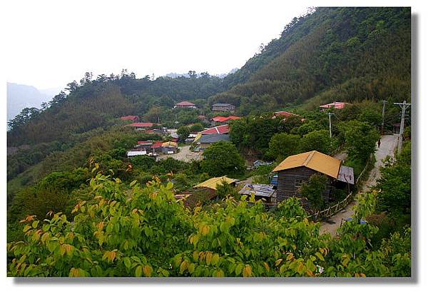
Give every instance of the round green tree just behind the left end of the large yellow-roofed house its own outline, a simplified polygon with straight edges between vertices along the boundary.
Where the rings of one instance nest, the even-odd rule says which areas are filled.
[[[270,138],[266,155],[281,161],[290,155],[299,153],[300,136],[288,133],[277,133]]]

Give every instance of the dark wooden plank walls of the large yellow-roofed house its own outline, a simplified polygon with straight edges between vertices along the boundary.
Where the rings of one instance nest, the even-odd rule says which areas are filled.
[[[299,187],[296,187],[296,180],[309,181],[310,176],[314,173],[318,172],[305,166],[279,171],[277,182],[277,201],[284,201],[285,199],[293,196],[302,197],[299,193]],[[330,192],[332,191],[330,177],[329,180],[330,183],[327,185],[327,189],[325,191],[325,201],[330,201]],[[305,198],[302,198],[302,206],[306,209],[310,208],[310,203],[308,203]]]

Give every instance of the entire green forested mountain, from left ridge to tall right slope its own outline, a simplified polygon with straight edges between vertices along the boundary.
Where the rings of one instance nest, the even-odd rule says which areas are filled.
[[[68,94],[55,96],[49,107],[11,123],[8,147],[31,146],[31,151],[17,153],[16,161],[8,158],[8,178],[46,156],[51,156],[49,162],[63,161],[56,152],[91,141],[120,125],[118,118],[124,115],[178,128],[201,122],[198,115],[211,115],[210,105],[216,102],[233,103],[236,113],[245,116],[287,107],[317,108],[332,101],[410,101],[410,30],[409,8],[322,7],[293,19],[279,39],[224,78],[208,73],[198,77],[194,71],[189,77],[156,79],[136,78],[127,71],[92,79],[88,73],[80,83],[68,83]],[[195,103],[198,111],[174,110],[183,100]],[[96,142],[103,145],[103,139]],[[22,158],[26,164],[14,169]],[[29,173],[27,178],[37,177]]]

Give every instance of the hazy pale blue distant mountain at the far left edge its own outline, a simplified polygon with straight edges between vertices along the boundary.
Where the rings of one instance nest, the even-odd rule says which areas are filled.
[[[7,83],[7,120],[10,121],[24,108],[40,108],[41,103],[51,100],[59,88],[39,90],[34,86]]]

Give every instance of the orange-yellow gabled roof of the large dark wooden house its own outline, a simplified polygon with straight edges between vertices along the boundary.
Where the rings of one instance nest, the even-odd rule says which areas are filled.
[[[284,171],[290,168],[306,166],[332,178],[337,178],[340,170],[340,160],[327,156],[318,151],[309,151],[285,158],[273,171]]]

